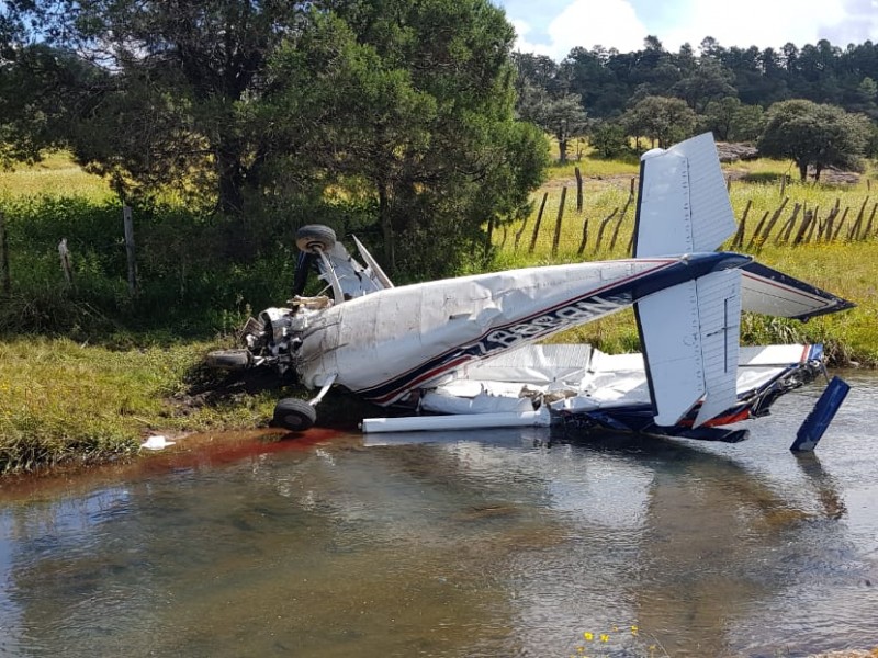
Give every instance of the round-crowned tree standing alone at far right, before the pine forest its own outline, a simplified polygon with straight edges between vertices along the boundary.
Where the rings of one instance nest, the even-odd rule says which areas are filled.
[[[826,167],[862,170],[862,157],[869,138],[869,122],[834,105],[792,100],[772,105],[759,136],[759,154],[790,158],[802,181],[808,168],[814,180]]]

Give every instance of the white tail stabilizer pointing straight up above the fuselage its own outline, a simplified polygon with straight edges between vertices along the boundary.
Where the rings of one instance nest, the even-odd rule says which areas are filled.
[[[640,169],[634,257],[713,251],[734,232],[710,133],[643,154]]]

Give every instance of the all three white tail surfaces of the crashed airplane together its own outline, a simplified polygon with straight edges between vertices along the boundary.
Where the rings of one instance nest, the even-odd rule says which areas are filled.
[[[734,231],[712,135],[643,155],[635,258],[714,251]],[[808,319],[852,306],[757,263],[641,299],[634,310],[656,424],[676,424],[699,401],[696,427],[734,406],[742,308]]]

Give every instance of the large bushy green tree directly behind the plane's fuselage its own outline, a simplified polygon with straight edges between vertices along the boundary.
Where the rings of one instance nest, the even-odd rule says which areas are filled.
[[[391,269],[447,274],[547,164],[542,134],[514,116],[513,41],[487,0],[349,3],[279,50],[261,123],[320,184],[374,204]]]

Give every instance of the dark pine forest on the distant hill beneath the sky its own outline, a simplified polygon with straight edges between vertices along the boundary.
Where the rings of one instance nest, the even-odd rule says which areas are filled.
[[[641,50],[576,47],[561,61],[516,54],[520,75],[551,93],[578,94],[589,116],[620,116],[649,95],[679,98],[701,114],[711,101],[733,97],[763,109],[790,99],[838,105],[878,118],[878,45],[842,49],[821,39],[801,48],[723,47],[706,37],[671,53],[654,36]]]

